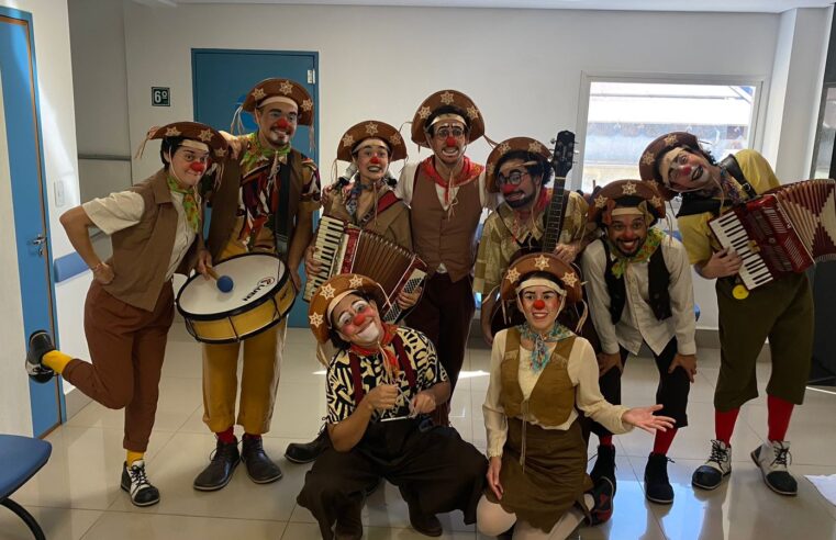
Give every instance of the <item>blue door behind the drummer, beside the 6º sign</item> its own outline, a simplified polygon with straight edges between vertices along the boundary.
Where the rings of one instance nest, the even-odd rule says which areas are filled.
[[[304,86],[314,103],[314,131],[319,131],[320,109],[316,93],[316,53],[274,50],[192,49],[194,121],[216,130],[230,131],[232,116],[250,88],[270,77],[291,79]],[[247,133],[256,130],[253,116],[242,115]],[[310,128],[299,126],[292,146],[319,164],[316,148],[311,148]],[[304,268],[300,270],[304,279]],[[288,316],[293,327],[308,326],[308,304],[301,294]]]

